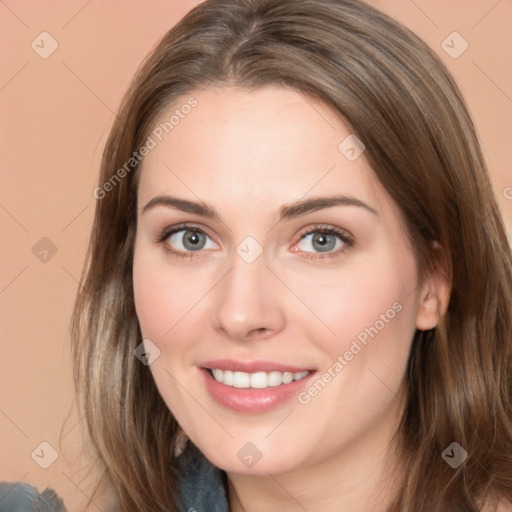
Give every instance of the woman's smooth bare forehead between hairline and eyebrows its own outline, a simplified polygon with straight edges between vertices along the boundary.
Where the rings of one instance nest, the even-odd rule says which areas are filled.
[[[193,92],[161,113],[150,136],[139,205],[165,193],[238,211],[308,194],[374,204],[385,196],[364,152],[347,158],[343,141],[353,135],[341,117],[288,88]]]

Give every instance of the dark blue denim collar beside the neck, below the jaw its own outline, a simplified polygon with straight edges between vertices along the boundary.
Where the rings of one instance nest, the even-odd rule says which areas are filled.
[[[180,510],[229,512],[226,473],[209,462],[191,441],[172,465],[179,482]]]

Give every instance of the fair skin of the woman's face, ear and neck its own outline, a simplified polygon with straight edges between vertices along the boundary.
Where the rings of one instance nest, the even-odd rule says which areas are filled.
[[[396,205],[364,153],[349,161],[340,152],[350,130],[327,106],[280,87],[191,96],[198,105],[146,156],[138,190],[134,293],[142,334],[161,350],[150,367],[156,385],[189,438],[228,472],[233,511],[384,509],[398,478],[389,450],[412,337],[435,327],[448,285],[441,272],[419,282]],[[334,193],[375,212],[341,205],[278,222],[282,206]],[[219,219],[142,211],[166,194],[202,200]],[[165,249],[186,251],[184,232],[156,241],[183,222],[208,235],[192,257]],[[350,233],[353,246],[338,241],[321,258],[313,235],[301,240],[318,224]],[[249,235],[263,248],[250,264],[236,252]],[[306,405],[294,397],[265,413],[235,412],[200,378],[197,365],[221,358],[321,375],[397,302],[400,312]],[[262,454],[252,468],[237,457],[247,442]]]

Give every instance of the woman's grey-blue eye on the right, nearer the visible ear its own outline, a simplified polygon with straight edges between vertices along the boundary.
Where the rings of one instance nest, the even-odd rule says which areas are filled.
[[[354,240],[347,232],[329,226],[314,226],[301,235],[299,242],[291,250],[320,253],[318,256],[308,255],[308,258],[325,258],[344,252],[353,245]]]

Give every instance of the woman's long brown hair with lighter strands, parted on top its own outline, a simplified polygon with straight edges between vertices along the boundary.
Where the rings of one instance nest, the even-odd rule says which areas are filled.
[[[445,66],[409,30],[357,0],[209,0],[138,71],[105,148],[100,186],[144,145],[166,106],[211,83],[277,84],[323,101],[364,142],[423,276],[439,263],[432,242],[444,249],[450,303],[439,326],[413,340],[397,433],[403,480],[390,510],[512,502],[510,248],[473,123]],[[133,356],[142,341],[132,289],[140,165],[130,165],[97,201],[72,319],[75,374],[121,508],[170,511],[177,425]],[[457,469],[441,457],[453,441],[469,454]]]

